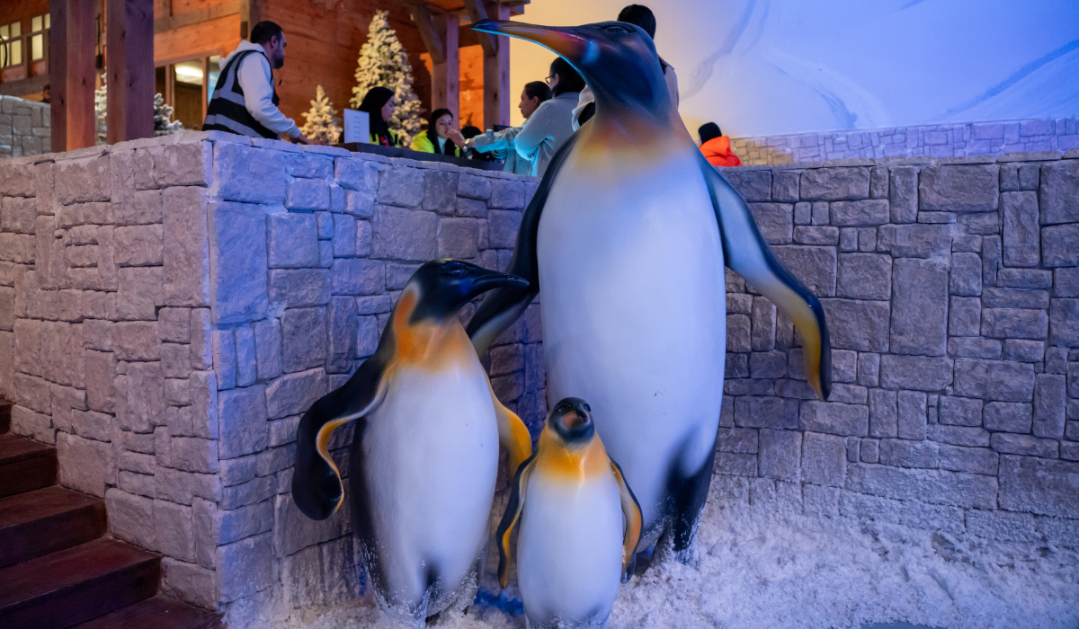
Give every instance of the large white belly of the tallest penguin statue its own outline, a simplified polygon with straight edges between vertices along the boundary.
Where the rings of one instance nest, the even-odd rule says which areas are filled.
[[[671,473],[694,474],[714,446],[723,249],[697,155],[581,152],[559,172],[537,232],[547,395],[588,400],[654,533]]]

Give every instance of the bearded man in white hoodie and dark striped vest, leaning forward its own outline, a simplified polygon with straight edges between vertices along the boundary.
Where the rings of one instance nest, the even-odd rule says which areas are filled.
[[[221,59],[221,74],[206,107],[203,131],[223,131],[250,137],[291,138],[301,145],[320,145],[303,137],[292,119],[277,109],[281,98],[273,71],[285,65],[285,31],[273,22],[260,22],[251,40]]]

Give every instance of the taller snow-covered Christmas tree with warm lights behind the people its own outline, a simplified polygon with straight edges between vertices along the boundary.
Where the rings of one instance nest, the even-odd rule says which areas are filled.
[[[359,49],[356,86],[352,88],[350,100],[353,109],[358,109],[367,91],[378,85],[394,91],[397,110],[390,120],[390,128],[407,147],[423,131],[425,121],[420,118],[423,112],[420,98],[412,91],[412,66],[408,63],[405,46],[397,40],[397,32],[390,28],[388,11],[374,13],[367,43]]]

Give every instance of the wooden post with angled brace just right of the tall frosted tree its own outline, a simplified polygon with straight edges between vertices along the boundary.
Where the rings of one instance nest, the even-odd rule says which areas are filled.
[[[431,55],[431,108],[449,109],[453,119],[461,110],[461,53],[457,46],[456,15],[434,16],[426,4],[411,8],[412,22]]]

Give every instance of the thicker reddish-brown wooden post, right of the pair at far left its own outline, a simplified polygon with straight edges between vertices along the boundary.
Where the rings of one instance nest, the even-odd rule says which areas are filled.
[[[108,142],[153,137],[153,0],[106,0]]]

